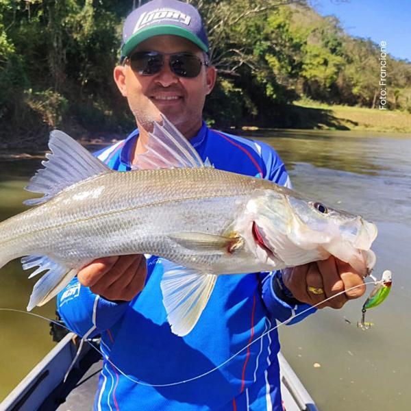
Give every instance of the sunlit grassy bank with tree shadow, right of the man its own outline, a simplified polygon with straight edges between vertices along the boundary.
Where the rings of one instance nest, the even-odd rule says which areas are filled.
[[[293,128],[411,133],[411,114],[348,105],[301,101],[290,106]]]

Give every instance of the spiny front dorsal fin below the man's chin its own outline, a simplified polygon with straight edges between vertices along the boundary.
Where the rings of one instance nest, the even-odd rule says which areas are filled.
[[[199,153],[175,126],[162,115],[162,125],[154,123],[149,133],[147,151],[138,155],[134,169],[172,169],[207,167]]]

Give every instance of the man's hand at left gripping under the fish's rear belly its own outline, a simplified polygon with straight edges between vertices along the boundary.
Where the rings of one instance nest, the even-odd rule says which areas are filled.
[[[99,258],[84,266],[77,278],[95,294],[110,301],[131,301],[144,288],[145,256]]]

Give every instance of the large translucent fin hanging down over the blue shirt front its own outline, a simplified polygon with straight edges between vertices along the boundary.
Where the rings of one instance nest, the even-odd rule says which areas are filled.
[[[171,331],[186,336],[197,324],[216,284],[214,274],[184,267],[166,271],[160,287]]]

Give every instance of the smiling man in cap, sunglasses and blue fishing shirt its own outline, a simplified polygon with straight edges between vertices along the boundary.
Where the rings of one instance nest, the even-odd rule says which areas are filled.
[[[217,169],[287,184],[284,164],[269,146],[216,132],[202,121],[216,70],[195,8],[153,0],[134,10],[124,24],[121,55],[114,80],[138,129],[97,153],[105,164],[119,171],[138,164],[153,121],[161,121],[162,113]],[[99,377],[96,410],[282,410],[275,330],[208,371],[275,320],[287,321],[292,312],[362,284],[360,275],[334,258],[283,274],[223,275],[195,328],[180,338],[166,321],[163,272],[164,262],[156,256],[148,256],[147,263],[144,256],[100,259],[79,271],[69,284],[74,292],[58,297],[60,315],[71,329],[81,336],[101,334],[109,360]],[[363,292],[357,288],[323,306],[340,308]]]

